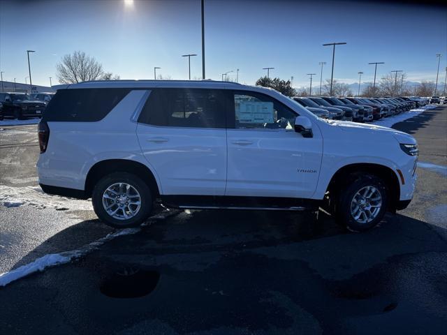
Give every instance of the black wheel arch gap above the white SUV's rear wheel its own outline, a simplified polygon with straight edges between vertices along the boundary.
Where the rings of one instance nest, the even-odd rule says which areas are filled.
[[[105,159],[91,166],[87,173],[85,179],[85,194],[87,197],[91,197],[96,181],[113,172],[129,172],[135,174],[145,181],[151,191],[154,192],[155,197],[160,195],[160,188],[154,173],[146,165],[129,159]]]

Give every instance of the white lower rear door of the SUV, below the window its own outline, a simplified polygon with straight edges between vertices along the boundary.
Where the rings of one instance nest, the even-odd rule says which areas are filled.
[[[138,140],[165,195],[223,195],[225,129],[168,128],[138,124]]]

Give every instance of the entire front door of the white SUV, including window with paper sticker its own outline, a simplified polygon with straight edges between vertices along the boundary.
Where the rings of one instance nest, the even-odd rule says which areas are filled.
[[[293,130],[298,116],[272,96],[233,91],[233,129],[227,131],[226,195],[309,198],[316,190],[323,152],[314,137]]]

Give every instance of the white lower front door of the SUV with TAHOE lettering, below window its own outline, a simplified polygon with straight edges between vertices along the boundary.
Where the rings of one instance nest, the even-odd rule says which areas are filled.
[[[321,138],[286,130],[228,129],[227,145],[226,195],[309,198],[314,193]]]

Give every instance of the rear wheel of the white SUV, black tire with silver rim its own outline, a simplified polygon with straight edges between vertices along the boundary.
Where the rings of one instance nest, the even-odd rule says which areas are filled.
[[[129,185],[127,191],[124,184]],[[121,192],[117,194],[120,187],[122,187]],[[139,207],[138,198],[140,199]],[[119,229],[140,225],[149,217],[153,207],[153,197],[149,186],[135,174],[127,172],[114,172],[100,179],[94,186],[91,202],[96,215],[103,223]],[[109,206],[111,212],[116,209],[115,216],[112,216],[105,206]]]

